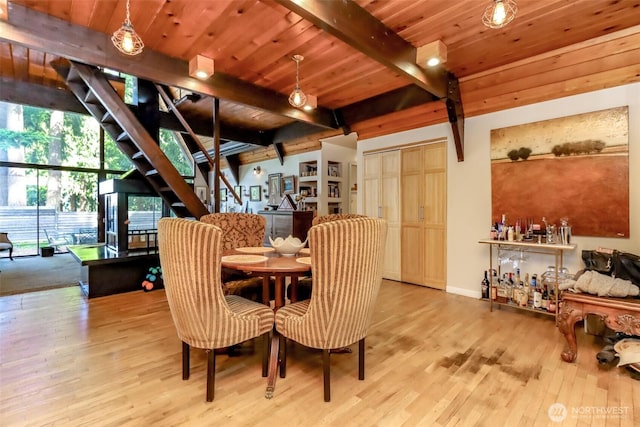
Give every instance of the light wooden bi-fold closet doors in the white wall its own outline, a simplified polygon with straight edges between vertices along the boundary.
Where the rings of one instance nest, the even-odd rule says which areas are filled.
[[[446,286],[446,140],[367,153],[364,214],[388,224],[386,279]]]

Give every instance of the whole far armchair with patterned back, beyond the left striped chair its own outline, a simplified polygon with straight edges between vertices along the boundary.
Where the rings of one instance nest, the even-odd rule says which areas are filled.
[[[266,219],[250,213],[214,213],[200,221],[222,229],[222,250],[263,246]],[[222,268],[222,285],[228,295],[240,295],[252,301],[269,304],[270,295],[263,292],[262,276]],[[270,292],[273,294],[273,292]]]

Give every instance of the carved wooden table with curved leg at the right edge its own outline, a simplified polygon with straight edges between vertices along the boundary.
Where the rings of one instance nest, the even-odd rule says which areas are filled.
[[[561,354],[565,362],[574,362],[578,356],[575,325],[587,314],[602,316],[605,324],[616,332],[640,335],[640,299],[606,298],[564,292],[558,328],[567,340],[567,346]]]

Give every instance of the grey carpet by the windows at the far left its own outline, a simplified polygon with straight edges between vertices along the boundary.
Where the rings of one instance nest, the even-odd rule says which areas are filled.
[[[77,286],[80,263],[69,253],[52,257],[0,258],[0,295]]]

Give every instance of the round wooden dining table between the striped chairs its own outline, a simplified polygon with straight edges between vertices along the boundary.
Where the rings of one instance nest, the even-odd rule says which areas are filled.
[[[271,250],[265,248],[265,250]],[[259,259],[263,257],[264,259]],[[305,258],[306,257],[306,258]],[[238,250],[226,251],[222,257],[222,266],[233,270],[251,272],[254,275],[263,276],[262,280],[262,300],[265,304],[270,303],[269,282],[270,278],[275,278],[274,311],[284,306],[285,303],[285,279],[291,279],[291,301],[297,300],[298,277],[311,271],[311,264],[300,262],[308,260],[308,255],[302,256],[281,256],[275,252],[265,252],[249,255]],[[267,390],[265,397],[271,399],[275,390],[276,376],[280,366],[280,340],[278,334],[273,329],[271,339],[271,353],[269,354],[269,373],[267,375]]]

